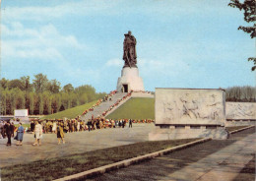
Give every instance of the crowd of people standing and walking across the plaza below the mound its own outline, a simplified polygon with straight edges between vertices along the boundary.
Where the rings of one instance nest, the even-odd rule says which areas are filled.
[[[29,128],[24,128],[23,124],[19,122],[18,126],[15,126],[10,121],[0,121],[0,138],[6,139],[6,146],[11,146],[11,139],[17,140],[16,145],[23,145],[23,137],[26,132],[34,135],[34,143],[32,146],[40,146],[43,134],[56,134],[58,144],[62,141],[65,144],[64,134],[82,131],[93,131],[106,128],[124,128],[129,124],[129,128],[132,127],[133,123],[153,123],[152,119],[134,120],[134,119],[105,119],[103,117],[97,117],[86,121],[80,120],[79,117],[76,119],[66,120],[39,120],[34,119],[31,121]],[[17,133],[15,135],[15,133]]]

